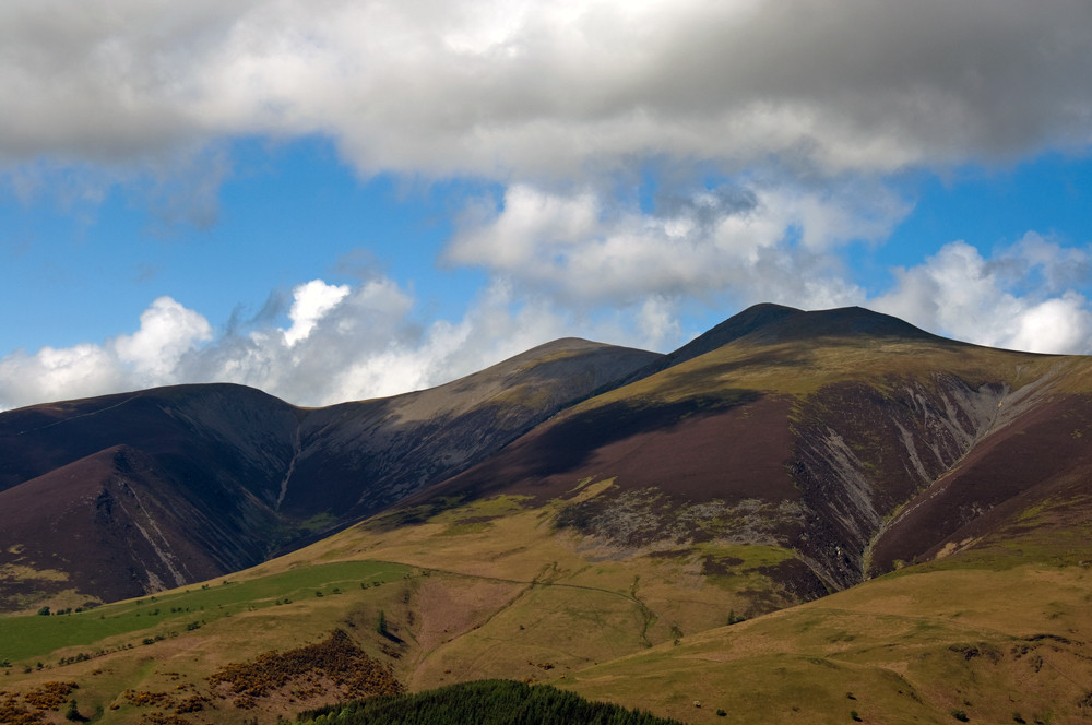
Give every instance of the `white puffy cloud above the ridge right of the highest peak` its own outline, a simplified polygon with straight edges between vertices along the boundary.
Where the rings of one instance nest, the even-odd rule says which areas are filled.
[[[1036,234],[993,258],[964,241],[897,271],[876,309],[921,328],[993,347],[1092,353],[1092,305],[1068,284],[1087,273],[1092,249],[1065,248]],[[1044,282],[1045,280],[1045,282]]]

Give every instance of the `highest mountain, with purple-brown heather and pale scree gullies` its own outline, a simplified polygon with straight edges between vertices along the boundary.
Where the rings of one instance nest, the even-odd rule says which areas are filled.
[[[1048,401],[1085,425],[1087,358],[977,347],[859,308],[761,306],[739,318],[669,356],[670,367],[563,412],[429,494],[544,501],[612,479],[558,525],[621,556],[716,540],[783,546],[795,561],[763,573],[806,598],[862,581],[885,522],[976,455],[994,460],[995,440],[1006,455],[1034,461],[1069,436],[1034,423],[1057,417]],[[1029,437],[995,438],[1004,430]],[[1028,465],[996,461],[994,484],[985,475],[959,484],[968,491],[960,512],[922,506],[919,518],[886,531],[874,570],[941,547],[1029,488]],[[1067,451],[1051,475],[1083,465]]]

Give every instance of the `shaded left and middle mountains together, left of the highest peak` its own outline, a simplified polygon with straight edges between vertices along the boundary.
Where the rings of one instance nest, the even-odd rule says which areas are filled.
[[[0,608],[81,606],[253,566],[658,357],[563,340],[434,390],[330,408],[212,384],[0,414]]]

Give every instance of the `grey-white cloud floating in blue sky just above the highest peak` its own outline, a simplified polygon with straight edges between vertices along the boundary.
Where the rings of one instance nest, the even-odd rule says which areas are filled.
[[[446,260],[571,306],[713,301],[725,290],[736,302],[852,304],[862,292],[823,252],[882,237],[907,205],[882,189],[838,189],[725,186],[645,212],[591,190],[513,185],[499,209],[486,203],[467,218]]]

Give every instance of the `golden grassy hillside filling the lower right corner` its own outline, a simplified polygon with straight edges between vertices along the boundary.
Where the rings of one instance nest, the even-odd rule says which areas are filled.
[[[687,722],[1092,720],[1092,496],[958,555],[567,678]],[[695,708],[700,701],[702,706]]]

